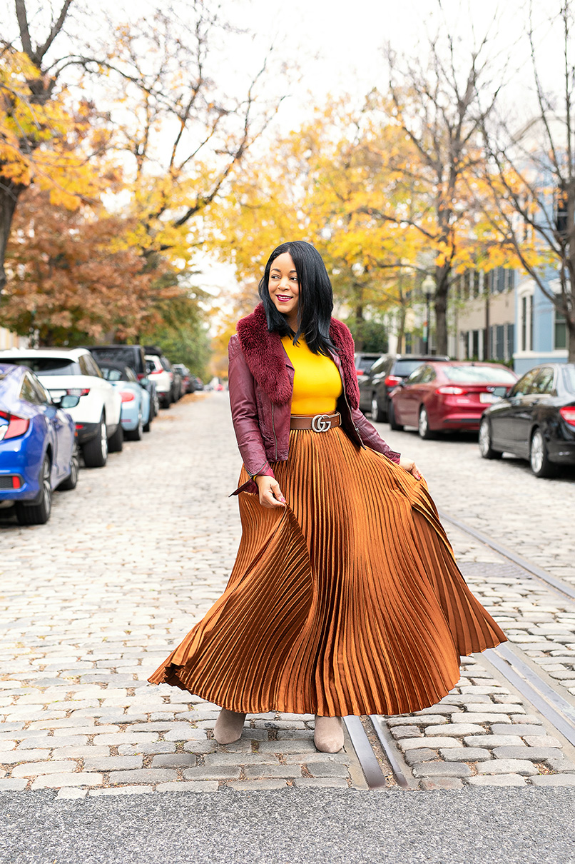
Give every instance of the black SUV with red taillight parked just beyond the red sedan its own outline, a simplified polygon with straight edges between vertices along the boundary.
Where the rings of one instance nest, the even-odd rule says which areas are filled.
[[[397,384],[409,378],[422,363],[448,359],[437,354],[383,354],[368,372],[357,378],[360,409],[364,414],[370,412],[376,422],[387,420],[389,393]]]

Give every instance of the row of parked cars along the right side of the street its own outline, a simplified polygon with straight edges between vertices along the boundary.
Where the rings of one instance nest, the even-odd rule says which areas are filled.
[[[424,439],[478,430],[484,459],[515,454],[538,477],[575,465],[574,364],[535,366],[519,380],[505,365],[415,354],[356,366],[360,408],[391,429],[415,427]]]

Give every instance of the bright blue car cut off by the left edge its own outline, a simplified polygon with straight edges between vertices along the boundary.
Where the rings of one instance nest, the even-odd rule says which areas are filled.
[[[78,482],[74,422],[63,410],[78,403],[53,400],[26,366],[0,363],[0,507],[14,504],[21,525],[47,522],[54,489]]]

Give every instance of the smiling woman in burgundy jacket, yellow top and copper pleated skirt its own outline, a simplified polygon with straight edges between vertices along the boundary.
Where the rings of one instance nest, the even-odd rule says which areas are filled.
[[[222,597],[149,678],[245,715],[314,714],[336,753],[344,715],[438,702],[459,658],[502,631],[465,585],[414,461],[358,410],[351,334],[331,318],[319,253],[277,247],[262,303],[230,340],[230,402],[243,458],[242,539]]]

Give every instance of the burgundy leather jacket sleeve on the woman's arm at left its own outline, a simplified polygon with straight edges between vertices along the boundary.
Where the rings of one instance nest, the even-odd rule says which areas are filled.
[[[266,474],[273,477],[274,472],[269,467],[258,424],[256,384],[243,357],[243,351],[237,337],[232,337],[230,340],[228,357],[230,359],[228,388],[230,391],[231,421],[234,424],[243,467],[250,474],[250,483],[244,484],[242,489],[245,489],[246,492],[257,492],[257,486],[251,481],[251,478],[256,474]]]

